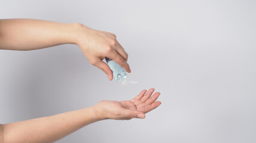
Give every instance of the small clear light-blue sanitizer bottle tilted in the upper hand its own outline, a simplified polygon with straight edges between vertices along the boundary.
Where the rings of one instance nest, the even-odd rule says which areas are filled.
[[[121,67],[118,63],[110,58],[106,58],[106,61],[110,69],[113,71],[113,76],[115,77],[116,81],[121,81],[123,85],[127,85],[127,72],[125,71],[124,67]]]

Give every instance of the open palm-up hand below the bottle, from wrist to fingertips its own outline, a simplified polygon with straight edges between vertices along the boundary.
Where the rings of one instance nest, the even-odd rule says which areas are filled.
[[[153,88],[149,89],[149,91],[143,90],[137,97],[129,101],[100,101],[93,108],[95,114],[100,116],[100,119],[144,119],[145,113],[155,109],[161,104],[160,101],[156,101],[160,93],[155,92],[155,94],[152,95],[154,91],[155,89]]]

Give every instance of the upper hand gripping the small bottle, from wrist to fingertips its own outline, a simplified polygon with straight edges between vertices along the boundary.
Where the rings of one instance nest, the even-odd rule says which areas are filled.
[[[120,66],[124,67],[128,73],[131,72],[127,63],[128,54],[116,40],[114,34],[94,30],[82,24],[80,24],[78,32],[77,45],[80,46],[89,62],[103,70],[109,77],[109,80],[113,79],[113,73],[110,67],[102,61],[106,57],[111,58]]]

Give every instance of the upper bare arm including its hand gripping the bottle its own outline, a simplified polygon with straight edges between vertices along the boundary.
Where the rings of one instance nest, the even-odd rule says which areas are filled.
[[[102,60],[112,58],[131,72],[128,54],[109,32],[94,30],[79,23],[56,23],[34,19],[0,20],[0,49],[31,50],[72,43],[78,45],[89,62],[113,79],[112,71]]]

